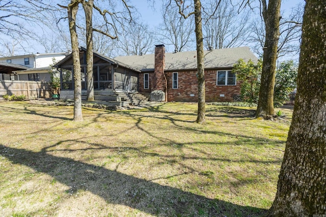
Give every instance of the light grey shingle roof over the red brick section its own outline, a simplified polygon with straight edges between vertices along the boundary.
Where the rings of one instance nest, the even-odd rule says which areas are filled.
[[[234,47],[204,51],[204,67],[207,69],[233,67],[240,58],[257,62],[249,47]],[[115,60],[140,71],[154,71],[154,54],[142,56],[121,56]],[[165,53],[165,70],[197,69],[197,51]]]

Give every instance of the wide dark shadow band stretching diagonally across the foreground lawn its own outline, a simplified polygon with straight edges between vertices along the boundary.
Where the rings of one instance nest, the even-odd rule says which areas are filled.
[[[67,157],[0,145],[0,153],[13,164],[28,166],[70,186],[156,216],[262,216],[267,210],[232,204],[184,192],[115,170],[85,164]]]

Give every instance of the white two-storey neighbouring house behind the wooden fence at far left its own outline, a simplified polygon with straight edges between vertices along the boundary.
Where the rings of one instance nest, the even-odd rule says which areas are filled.
[[[49,65],[66,57],[66,53],[36,53],[0,58],[0,80],[34,80],[48,82]],[[20,66],[20,67],[17,67]],[[32,69],[32,70],[30,70]]]

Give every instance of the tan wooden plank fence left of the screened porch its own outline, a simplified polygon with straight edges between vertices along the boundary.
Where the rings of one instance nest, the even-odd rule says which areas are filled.
[[[47,82],[31,82],[29,80],[2,80],[0,81],[0,97],[4,95],[25,95],[26,99],[48,98],[50,85]]]

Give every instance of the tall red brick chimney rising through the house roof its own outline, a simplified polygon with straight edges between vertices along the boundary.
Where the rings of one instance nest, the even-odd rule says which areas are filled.
[[[155,45],[155,66],[152,79],[152,91],[161,90],[166,92],[165,69],[165,46],[164,44]]]

